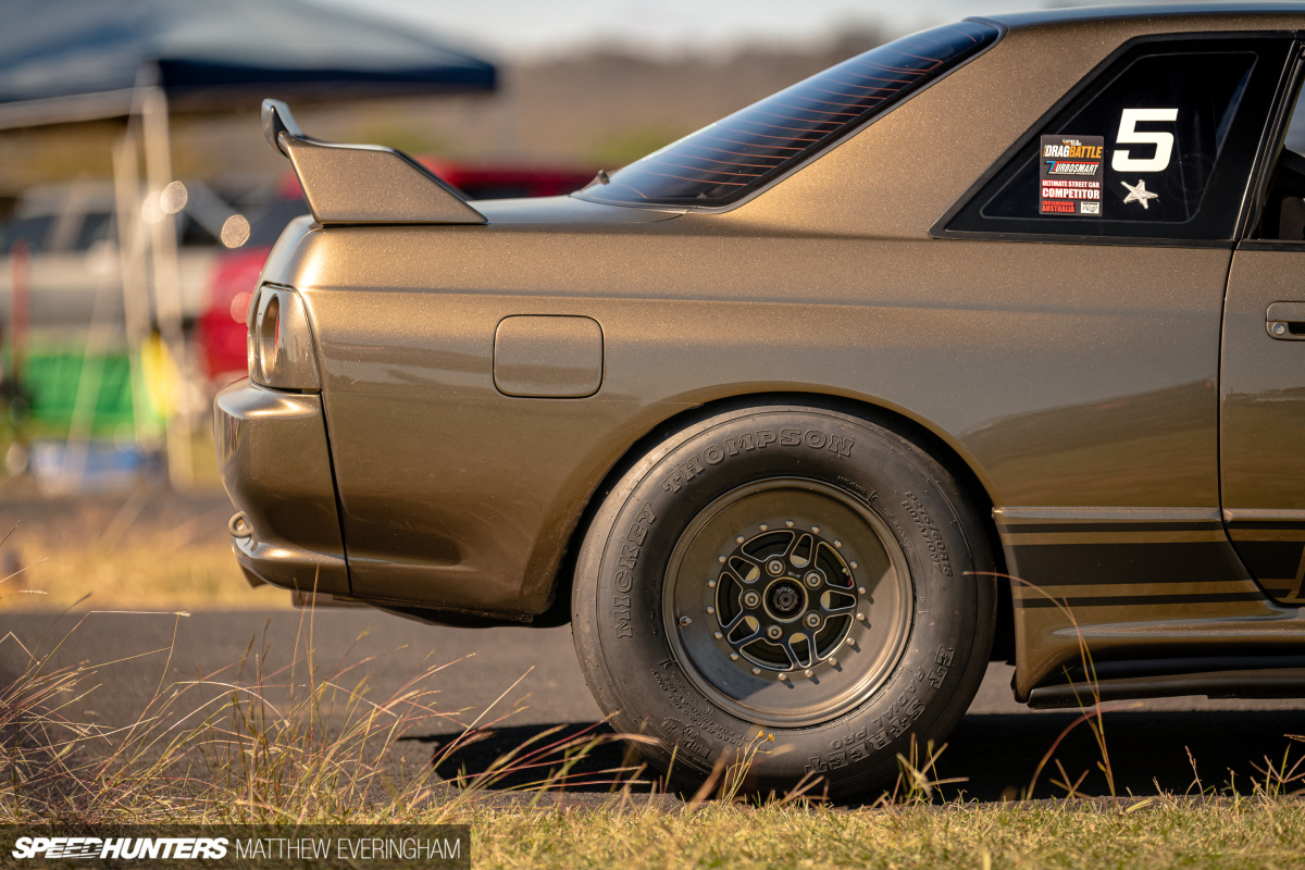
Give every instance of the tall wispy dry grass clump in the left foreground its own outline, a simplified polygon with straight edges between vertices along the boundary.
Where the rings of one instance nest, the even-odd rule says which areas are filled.
[[[0,595],[0,605],[5,599]],[[175,614],[179,626],[185,616]],[[51,663],[84,620],[44,650],[16,634],[0,638],[5,664],[18,663],[8,685],[0,685],[0,824],[435,823],[465,814],[479,796],[509,780],[515,790],[544,792],[579,780],[629,780],[638,772],[576,771],[576,760],[619,740],[596,736],[592,727],[565,737],[538,734],[482,771],[441,780],[437,768],[448,768],[512,711],[437,706],[441,672],[465,667],[461,661],[427,663],[377,697],[367,674],[385,667],[381,657],[315,660],[312,610],[301,614],[284,667],[265,669],[270,648],[251,642],[228,668],[193,680],[161,678],[124,727],[74,721],[68,711],[95,690],[98,668]],[[145,655],[170,663],[175,637],[172,646]],[[461,730],[433,758],[427,753],[416,767],[395,768],[397,741],[437,721]]]

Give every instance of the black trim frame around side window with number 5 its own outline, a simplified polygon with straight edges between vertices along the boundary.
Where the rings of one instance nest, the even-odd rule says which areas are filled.
[[[1088,73],[1086,73],[1069,91],[1066,91],[1056,103],[1052,104],[1032,125],[1015,140],[1015,142],[1007,147],[1001,157],[998,157],[992,166],[989,166],[979,179],[970,185],[970,188],[957,200],[955,203],[929,228],[929,236],[933,239],[970,239],[970,240],[993,240],[993,241],[1040,241],[1040,243],[1058,243],[1058,244],[1091,244],[1091,245],[1116,245],[1116,247],[1165,247],[1165,248],[1233,248],[1238,244],[1246,227],[1246,217],[1250,206],[1250,192],[1253,181],[1258,180],[1258,172],[1261,171],[1261,160],[1263,158],[1263,150],[1266,147],[1265,127],[1259,130],[1259,138],[1254,150],[1254,163],[1250,172],[1246,176],[1246,185],[1241,194],[1241,202],[1238,203],[1237,217],[1232,223],[1232,232],[1228,237],[1211,239],[1211,237],[1184,237],[1182,235],[1099,235],[1099,233],[1082,233],[1082,232],[1036,232],[1031,230],[1021,228],[955,228],[953,223],[957,222],[962,215],[968,217],[967,213],[972,213],[976,222],[983,223],[996,223],[997,219],[987,218],[979,214],[983,203],[979,202],[979,197],[984,193],[987,187],[998,176],[1007,173],[1007,170],[1013,166],[1015,160],[1023,163],[1027,159],[1028,149],[1032,147],[1034,141],[1041,134],[1041,132],[1062,112],[1070,110],[1074,104],[1081,107],[1086,106],[1091,98],[1091,91],[1098,87],[1100,80],[1107,74],[1117,63],[1120,63],[1125,56],[1137,51],[1143,46],[1158,46],[1163,47],[1165,44],[1174,43],[1195,43],[1206,40],[1276,40],[1283,43],[1291,43],[1284,47],[1283,64],[1276,73],[1272,68],[1267,68],[1266,72],[1259,72],[1258,69],[1251,70],[1251,81],[1261,78],[1263,76],[1275,76],[1276,83],[1274,85],[1275,91],[1268,100],[1268,107],[1265,116],[1270,120],[1276,119],[1276,110],[1282,102],[1282,91],[1284,82],[1292,72],[1293,64],[1297,57],[1297,46],[1300,43],[1301,33],[1292,30],[1232,30],[1232,31],[1210,31],[1210,33],[1165,33],[1165,34],[1148,34],[1144,37],[1134,37],[1126,40],[1112,51],[1107,57],[1104,57],[1096,67],[1094,67]],[[1263,52],[1261,53],[1261,61],[1265,61]],[[1267,59],[1271,60],[1271,59]],[[1088,99],[1084,99],[1087,97]],[[1238,110],[1240,111],[1240,110]],[[1010,170],[1010,179],[1019,170]],[[1212,176],[1214,177],[1214,176]],[[1009,179],[1007,179],[1009,180]],[[1190,226],[1191,218],[1184,223],[1158,223],[1158,224],[1142,224],[1152,227],[1176,227],[1181,228]],[[1036,219],[1032,218],[1009,218],[1006,222],[1015,223],[1034,223]]]

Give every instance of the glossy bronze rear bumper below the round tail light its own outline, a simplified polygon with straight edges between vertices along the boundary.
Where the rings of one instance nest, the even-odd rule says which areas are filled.
[[[236,381],[213,403],[231,545],[254,583],[348,595],[321,397]]]

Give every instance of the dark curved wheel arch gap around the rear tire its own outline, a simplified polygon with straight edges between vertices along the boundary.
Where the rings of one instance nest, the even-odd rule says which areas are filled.
[[[979,514],[979,520],[988,535],[988,545],[996,567],[1006,573],[1005,554],[1001,540],[997,535],[997,524],[993,520],[992,509],[994,502],[983,479],[960,453],[934,430],[910,416],[864,398],[848,398],[843,395],[830,395],[825,393],[793,390],[793,391],[757,391],[739,393],[720,397],[694,406],[660,420],[651,427],[642,437],[637,438],[621,454],[621,457],[607,470],[602,483],[590,494],[589,501],[581,514],[579,520],[572,530],[566,541],[566,552],[553,580],[553,603],[547,613],[542,614],[536,622],[539,625],[562,625],[570,618],[570,596],[576,574],[576,556],[581,543],[589,533],[594,522],[594,515],[599,505],[612,490],[616,483],[625,475],[641,457],[649,453],[673,433],[689,427],[698,420],[705,420],[723,411],[754,407],[760,404],[809,404],[833,411],[842,411],[851,416],[861,417],[868,423],[882,425],[903,438],[925,450],[938,460],[944,468],[955,477],[960,485],[962,494],[970,501],[970,506]],[[997,626],[993,638],[992,659],[1009,660],[1014,657],[1014,618],[1011,607],[1011,593],[1009,583],[998,583]]]

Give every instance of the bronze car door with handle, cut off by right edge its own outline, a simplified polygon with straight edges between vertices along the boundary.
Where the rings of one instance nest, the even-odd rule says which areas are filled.
[[[1266,592],[1298,604],[1305,601],[1305,106],[1297,98],[1284,108],[1289,120],[1270,151],[1259,218],[1228,273],[1220,488],[1242,562]]]

